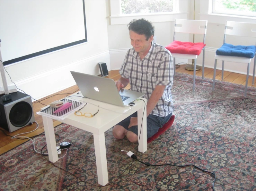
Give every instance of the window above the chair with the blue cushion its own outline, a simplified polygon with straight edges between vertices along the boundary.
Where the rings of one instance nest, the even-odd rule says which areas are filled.
[[[212,13],[256,17],[255,0],[213,0]]]

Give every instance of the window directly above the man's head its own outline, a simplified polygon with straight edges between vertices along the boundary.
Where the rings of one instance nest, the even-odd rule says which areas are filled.
[[[121,14],[174,12],[174,0],[121,0]]]

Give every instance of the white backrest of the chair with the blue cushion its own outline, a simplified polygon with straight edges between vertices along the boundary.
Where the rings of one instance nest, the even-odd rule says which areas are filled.
[[[256,37],[256,23],[226,21],[224,35]]]

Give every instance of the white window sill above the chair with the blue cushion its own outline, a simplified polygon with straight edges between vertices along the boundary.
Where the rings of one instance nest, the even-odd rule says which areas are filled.
[[[200,20],[208,20],[209,23],[226,24],[226,21],[256,22],[256,17],[238,16],[217,13],[199,13]]]

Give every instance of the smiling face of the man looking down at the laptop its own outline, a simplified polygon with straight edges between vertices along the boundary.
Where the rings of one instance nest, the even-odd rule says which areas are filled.
[[[131,39],[131,45],[134,48],[135,52],[138,53],[148,53],[151,42],[153,40],[153,35],[146,40],[146,36],[144,34],[137,34],[136,32],[130,30],[130,39]]]

